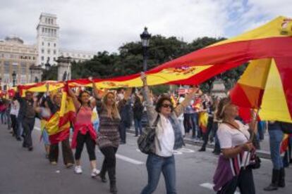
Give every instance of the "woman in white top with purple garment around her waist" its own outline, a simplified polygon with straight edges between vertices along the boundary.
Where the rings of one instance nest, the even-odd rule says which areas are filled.
[[[236,120],[238,107],[230,98],[221,99],[216,117],[221,120],[217,136],[222,155],[219,156],[214,174],[214,190],[218,193],[234,193],[238,187],[242,194],[253,194],[255,183],[251,164],[255,148],[250,141],[253,130],[249,130],[250,127]]]

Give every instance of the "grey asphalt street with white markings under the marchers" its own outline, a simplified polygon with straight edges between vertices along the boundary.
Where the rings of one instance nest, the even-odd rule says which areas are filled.
[[[62,158],[57,166],[51,166],[44,157],[44,148],[39,142],[40,131],[33,131],[34,150],[28,152],[0,124],[0,193],[2,194],[63,194],[63,193],[109,193],[108,183],[90,177],[90,165],[86,150],[83,150],[83,174],[65,169]],[[176,172],[178,193],[214,193],[212,176],[217,157],[212,150],[199,153],[199,147],[187,145],[176,152]],[[128,134],[127,144],[121,145],[117,154],[118,193],[140,193],[147,182],[145,168],[146,155],[137,150],[136,138]],[[61,160],[60,160],[61,159]],[[97,149],[97,162],[100,169],[103,160]],[[270,182],[272,162],[263,160],[261,169],[254,172],[257,193]],[[59,173],[58,173],[59,171]],[[291,193],[292,169],[286,169],[286,188],[272,193]],[[155,193],[166,193],[163,176]]]

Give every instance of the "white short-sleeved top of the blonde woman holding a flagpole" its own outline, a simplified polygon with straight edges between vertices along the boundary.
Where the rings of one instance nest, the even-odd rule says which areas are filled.
[[[242,145],[246,143],[250,138],[250,133],[248,132],[248,126],[244,125],[242,122],[236,120],[239,125],[239,129],[232,129],[229,125],[221,123],[219,124],[217,136],[219,138],[220,147],[224,148],[234,148],[237,145]]]

